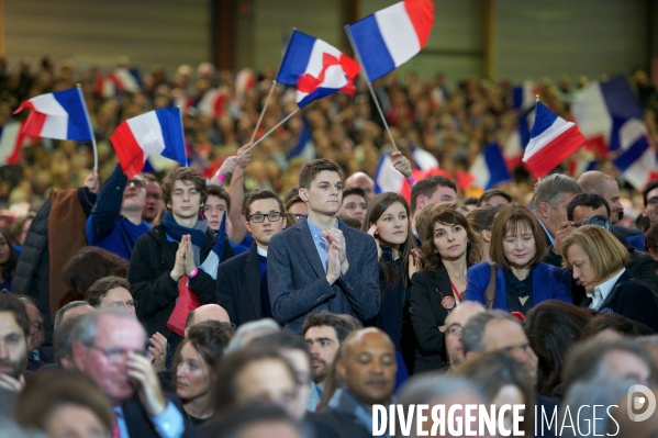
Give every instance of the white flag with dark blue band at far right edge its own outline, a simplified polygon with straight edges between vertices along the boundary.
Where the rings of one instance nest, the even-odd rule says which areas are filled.
[[[651,179],[657,164],[647,126],[639,119],[628,119],[613,132],[611,141],[618,150],[614,165],[626,181],[642,190]]]

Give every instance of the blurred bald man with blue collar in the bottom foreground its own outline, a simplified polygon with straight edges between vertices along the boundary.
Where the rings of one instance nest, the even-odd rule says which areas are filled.
[[[356,330],[343,342],[335,366],[344,386],[314,418],[342,437],[371,437],[372,405],[390,404],[395,386],[393,341],[379,328]]]

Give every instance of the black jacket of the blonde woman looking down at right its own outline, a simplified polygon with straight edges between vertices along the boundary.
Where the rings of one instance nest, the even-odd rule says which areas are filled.
[[[583,307],[591,304],[585,297]],[[633,278],[626,270],[617,279],[607,297],[599,306],[601,313],[618,313],[658,332],[658,296],[645,283]]]

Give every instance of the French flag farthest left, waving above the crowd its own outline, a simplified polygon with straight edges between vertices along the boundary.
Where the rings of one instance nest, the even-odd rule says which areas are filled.
[[[21,103],[14,114],[31,109],[21,132],[55,139],[91,141],[92,130],[82,91],[71,88],[41,94]]]

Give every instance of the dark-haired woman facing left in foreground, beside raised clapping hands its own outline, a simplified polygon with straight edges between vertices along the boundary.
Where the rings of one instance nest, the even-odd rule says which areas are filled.
[[[194,324],[178,346],[171,373],[186,425],[201,425],[213,415],[213,370],[230,340],[225,325],[207,321]]]

